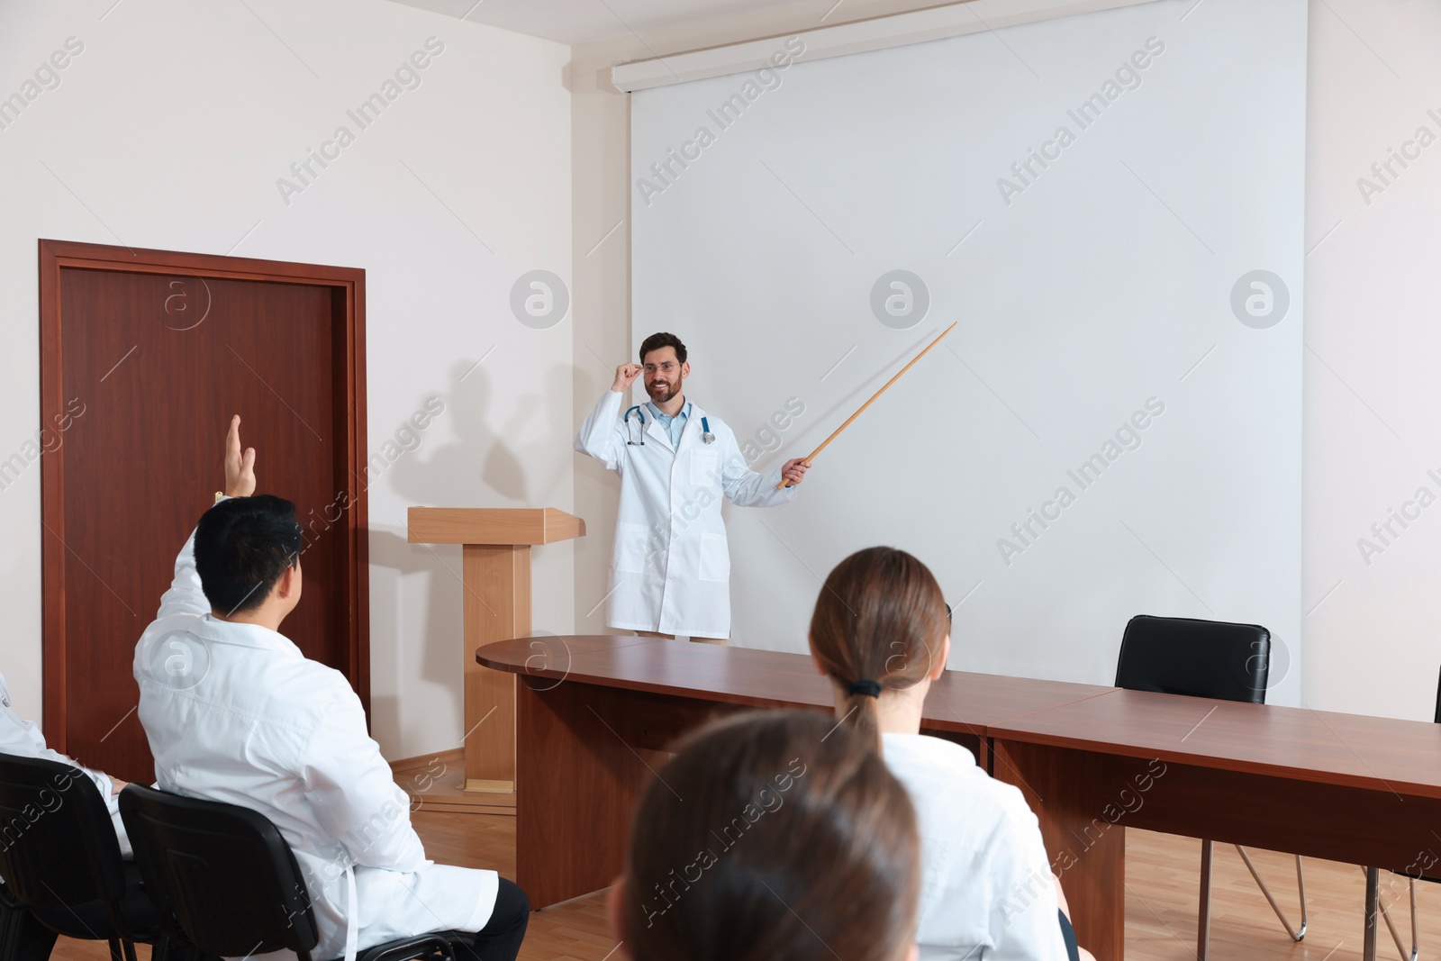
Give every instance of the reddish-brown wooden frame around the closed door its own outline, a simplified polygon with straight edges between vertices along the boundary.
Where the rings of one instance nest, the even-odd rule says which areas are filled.
[[[369,601],[369,501],[366,499],[366,365],[365,365],[365,271],[350,267],[288,264],[213,254],[147,251],[102,243],[39,241],[40,255],[40,422],[59,424],[65,412],[61,357],[61,269],[82,268],[196,278],[231,278],[274,284],[330,287],[337,295],[334,336],[344,350],[336,350],[334,383],[344,386],[337,396],[344,432],[343,464],[337,477],[350,478],[349,509],[337,523],[346,540],[344,584],[334,585],[349,609],[342,673],[370,715],[370,601]],[[45,732],[49,746],[63,752],[65,703],[65,448],[40,458],[40,517],[55,537],[42,537]],[[159,602],[159,598],[156,598]],[[137,638],[138,640],[138,638]]]

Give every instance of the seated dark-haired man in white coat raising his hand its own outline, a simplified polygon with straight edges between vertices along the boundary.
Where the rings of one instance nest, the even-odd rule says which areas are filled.
[[[483,961],[513,961],[525,895],[496,872],[427,860],[360,699],[280,634],[300,602],[303,532],[294,504],[254,496],[239,422],[226,499],[200,517],[135,647],[159,787],[254,808],[280,828],[316,911],[317,961],[438,929],[476,931]]]

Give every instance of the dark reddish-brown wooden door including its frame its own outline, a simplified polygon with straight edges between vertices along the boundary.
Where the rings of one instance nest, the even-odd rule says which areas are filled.
[[[223,487],[232,414],[258,493],[305,527],[282,633],[369,710],[365,272],[40,241],[45,733],[154,778],[135,641]]]

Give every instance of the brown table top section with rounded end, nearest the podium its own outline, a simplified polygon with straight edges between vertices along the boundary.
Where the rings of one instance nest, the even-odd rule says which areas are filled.
[[[594,634],[500,641],[477,650],[476,660],[537,679],[540,690],[574,681],[754,707],[831,706],[830,681],[807,654]],[[948,670],[927,694],[921,726],[986,736],[997,723],[1112,690]]]

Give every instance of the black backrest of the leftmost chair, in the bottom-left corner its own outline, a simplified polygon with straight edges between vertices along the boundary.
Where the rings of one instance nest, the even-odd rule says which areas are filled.
[[[125,896],[120,841],[89,775],[0,754],[0,877],[14,900],[48,913]]]

